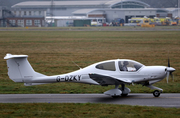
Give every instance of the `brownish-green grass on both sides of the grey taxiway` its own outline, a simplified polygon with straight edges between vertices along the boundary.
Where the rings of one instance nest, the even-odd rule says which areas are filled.
[[[26,54],[35,71],[57,75],[86,67],[98,61],[128,58],[145,65],[167,65],[170,57],[175,81],[155,84],[164,92],[180,92],[180,33],[119,31],[1,31],[0,93],[103,93],[114,86],[101,87],[77,83],[55,83],[25,87],[12,82],[7,75],[6,53]],[[152,92],[141,85],[128,86],[133,93]],[[142,107],[112,104],[27,103],[0,104],[0,117],[180,117],[177,108]]]

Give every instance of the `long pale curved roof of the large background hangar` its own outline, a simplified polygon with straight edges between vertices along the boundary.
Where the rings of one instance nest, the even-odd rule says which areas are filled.
[[[101,6],[101,7],[113,7],[114,5],[139,5],[142,7],[150,7],[148,4],[138,0],[96,0],[96,1],[54,1],[53,5],[58,6]],[[30,7],[50,7],[51,1],[26,1],[20,2],[12,6],[12,8],[30,8]]]

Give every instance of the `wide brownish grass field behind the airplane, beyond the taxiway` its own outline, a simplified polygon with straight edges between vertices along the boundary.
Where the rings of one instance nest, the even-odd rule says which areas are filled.
[[[170,57],[175,81],[163,80],[156,86],[164,92],[180,92],[179,31],[1,31],[0,32],[0,93],[103,93],[114,86],[56,83],[25,87],[7,76],[3,57],[6,53],[26,54],[35,71],[57,75],[80,67],[109,60],[133,59],[145,65],[165,65]],[[152,92],[140,85],[128,86],[132,92]]]

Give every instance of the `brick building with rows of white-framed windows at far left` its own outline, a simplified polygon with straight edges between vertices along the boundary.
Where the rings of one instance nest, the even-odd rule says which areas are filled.
[[[0,8],[1,27],[44,27],[46,11],[44,9],[8,9]]]

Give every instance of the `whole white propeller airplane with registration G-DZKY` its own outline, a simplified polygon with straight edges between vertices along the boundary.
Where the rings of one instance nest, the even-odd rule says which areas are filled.
[[[46,76],[35,72],[27,60],[28,55],[6,54],[8,76],[14,82],[24,83],[25,86],[40,85],[56,82],[76,82],[101,86],[115,85],[115,89],[104,92],[112,97],[127,96],[131,90],[125,85],[142,84],[155,89],[153,95],[159,97],[163,89],[152,84],[163,80],[175,71],[165,66],[145,66],[139,62],[128,59],[108,60],[92,64],[83,69],[62,75]],[[119,85],[121,85],[120,88]]]

